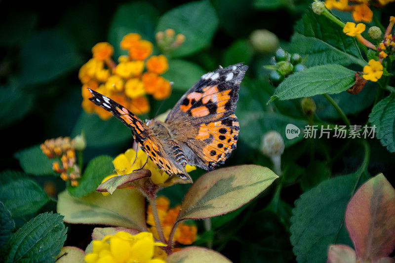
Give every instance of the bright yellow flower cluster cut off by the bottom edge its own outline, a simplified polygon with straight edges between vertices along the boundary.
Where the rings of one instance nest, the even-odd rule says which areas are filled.
[[[94,240],[92,253],[86,254],[86,263],[165,263],[155,257],[155,248],[166,244],[155,242],[152,233],[132,235],[119,231],[102,240]]]

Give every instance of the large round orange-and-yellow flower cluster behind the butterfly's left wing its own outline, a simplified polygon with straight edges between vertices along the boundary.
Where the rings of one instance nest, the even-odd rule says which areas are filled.
[[[171,92],[170,82],[160,76],[168,69],[167,59],[164,55],[150,56],[153,50],[150,41],[130,33],[122,39],[120,47],[126,49],[128,55],[119,56],[116,64],[111,58],[113,46],[107,42],[97,43],[92,48],[93,58],[79,70],[83,84],[82,108],[87,113],[97,113],[102,119],[108,119],[111,113],[88,100],[91,94],[87,88],[110,97],[135,114],[150,111],[147,94],[163,100]]]

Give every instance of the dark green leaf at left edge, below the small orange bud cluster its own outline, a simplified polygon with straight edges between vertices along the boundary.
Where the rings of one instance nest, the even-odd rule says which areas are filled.
[[[46,193],[26,174],[11,170],[0,172],[0,201],[12,217],[35,213],[48,200]]]

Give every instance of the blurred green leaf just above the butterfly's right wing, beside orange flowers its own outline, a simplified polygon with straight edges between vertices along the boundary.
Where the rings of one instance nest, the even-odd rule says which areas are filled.
[[[187,91],[206,72],[197,64],[186,60],[169,60],[169,70],[163,77],[173,81],[172,88],[179,91]]]

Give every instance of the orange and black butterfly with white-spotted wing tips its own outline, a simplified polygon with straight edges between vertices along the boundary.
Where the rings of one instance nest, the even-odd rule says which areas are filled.
[[[180,98],[164,122],[144,123],[125,107],[92,89],[89,98],[132,130],[135,142],[168,175],[191,179],[185,166],[207,171],[223,164],[236,149],[239,124],[235,115],[242,63],[202,75]]]

